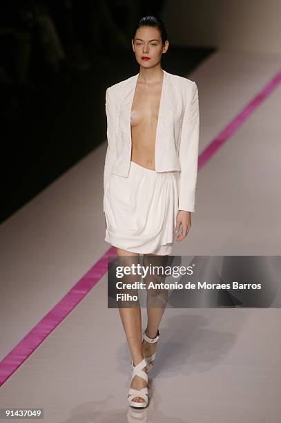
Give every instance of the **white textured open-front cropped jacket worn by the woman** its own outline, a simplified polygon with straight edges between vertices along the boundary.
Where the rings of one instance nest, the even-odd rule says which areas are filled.
[[[111,173],[128,176],[132,148],[130,109],[138,75],[106,90],[108,147],[104,194]],[[199,120],[196,83],[164,71],[155,139],[155,171],[180,171],[178,209],[189,212],[195,212]]]

